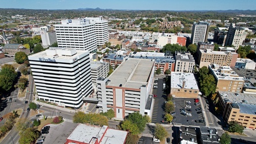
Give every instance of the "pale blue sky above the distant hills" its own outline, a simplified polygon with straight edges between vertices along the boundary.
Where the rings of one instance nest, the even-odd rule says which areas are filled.
[[[0,8],[119,10],[255,10],[256,0],[0,0]]]

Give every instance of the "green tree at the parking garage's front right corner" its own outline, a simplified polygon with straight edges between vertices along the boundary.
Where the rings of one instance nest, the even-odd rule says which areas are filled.
[[[136,124],[139,132],[144,131],[144,128],[146,126],[146,119],[144,116],[141,115],[141,113],[139,112],[130,113],[128,115],[127,120],[130,120],[132,123]]]

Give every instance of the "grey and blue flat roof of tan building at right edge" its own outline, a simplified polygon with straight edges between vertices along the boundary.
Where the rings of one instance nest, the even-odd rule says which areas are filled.
[[[227,100],[231,103],[238,104],[240,108],[240,113],[248,113],[256,115],[256,93],[255,94],[247,94],[247,93],[235,93],[232,92],[220,92],[220,94],[224,93],[227,96],[221,96],[222,99],[227,98]],[[236,106],[236,105],[235,105]]]

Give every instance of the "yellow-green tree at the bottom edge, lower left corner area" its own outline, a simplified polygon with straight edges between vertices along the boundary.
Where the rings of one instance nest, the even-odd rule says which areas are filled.
[[[39,131],[35,128],[27,128],[25,131],[20,132],[20,139],[18,143],[27,144],[34,142],[39,137]]]

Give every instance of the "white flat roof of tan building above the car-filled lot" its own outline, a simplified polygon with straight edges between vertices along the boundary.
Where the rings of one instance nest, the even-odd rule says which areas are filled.
[[[181,89],[185,81],[185,89],[198,90],[197,81],[193,73],[171,72],[171,88]]]

